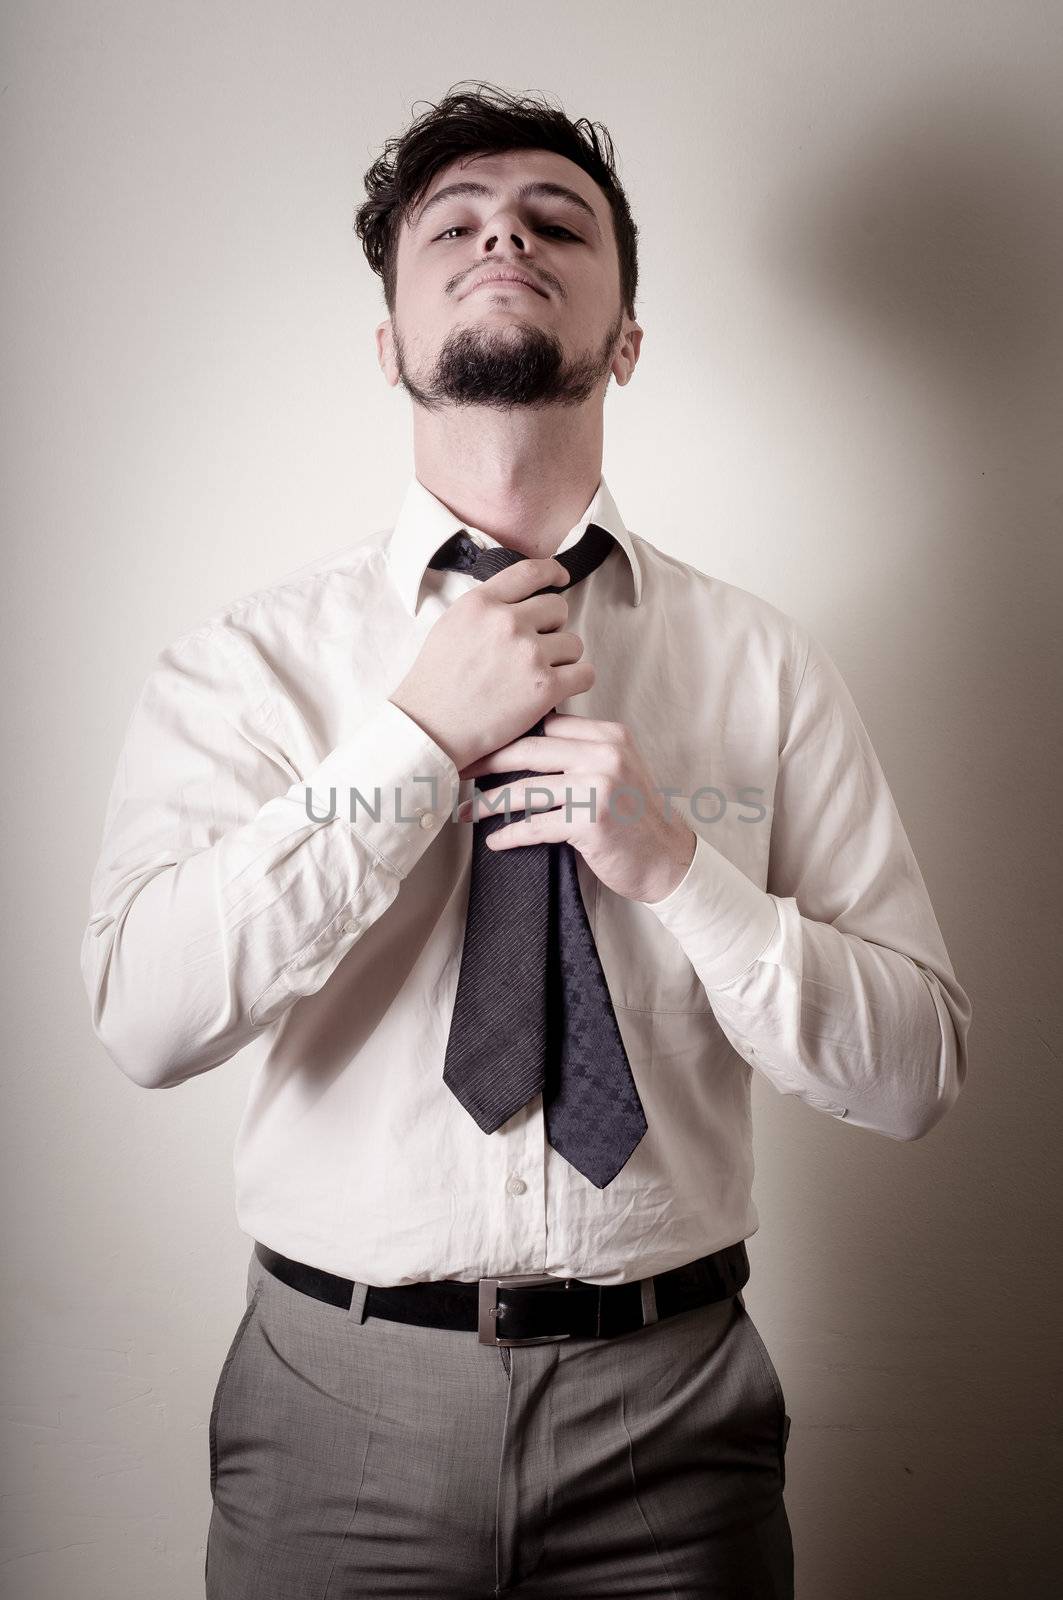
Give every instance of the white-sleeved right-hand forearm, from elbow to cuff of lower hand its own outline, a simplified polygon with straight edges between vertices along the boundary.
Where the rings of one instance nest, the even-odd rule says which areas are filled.
[[[921,1138],[956,1101],[970,1003],[929,906],[901,952],[804,917],[701,838],[684,883],[652,909],[727,1038],[781,1094],[893,1139]]]

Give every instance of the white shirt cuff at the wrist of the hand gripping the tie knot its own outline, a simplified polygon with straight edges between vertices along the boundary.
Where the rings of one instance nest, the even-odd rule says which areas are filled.
[[[451,816],[461,779],[447,752],[394,701],[383,701],[304,782],[315,818],[335,819],[405,878]],[[375,814],[376,813],[376,814]]]

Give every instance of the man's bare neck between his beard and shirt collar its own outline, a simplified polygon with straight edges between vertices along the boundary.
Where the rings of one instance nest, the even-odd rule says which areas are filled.
[[[413,406],[415,472],[455,517],[552,555],[602,477],[602,397],[578,406]]]

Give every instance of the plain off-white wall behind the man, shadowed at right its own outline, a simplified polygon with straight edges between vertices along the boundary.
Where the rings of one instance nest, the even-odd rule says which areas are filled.
[[[352,213],[466,77],[613,131],[647,334],[610,485],[832,653],[975,1003],[917,1144],[754,1082],[797,1594],[1029,1600],[1063,1554],[1063,11],[1036,0],[8,0],[3,1592],[202,1594],[247,1067],[152,1094],[109,1062],[88,878],[155,651],[392,520],[408,403]]]

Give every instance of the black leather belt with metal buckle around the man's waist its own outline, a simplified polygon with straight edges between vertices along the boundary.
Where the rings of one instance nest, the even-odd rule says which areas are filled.
[[[255,1254],[288,1288],[351,1309],[351,1278],[290,1261],[258,1242]],[[479,1280],[442,1278],[394,1288],[370,1285],[363,1315],[408,1322],[418,1328],[479,1333],[480,1344],[612,1339],[695,1306],[730,1299],[748,1280],[749,1256],[744,1240],[738,1240],[711,1256],[634,1283],[584,1283],[541,1272]]]

